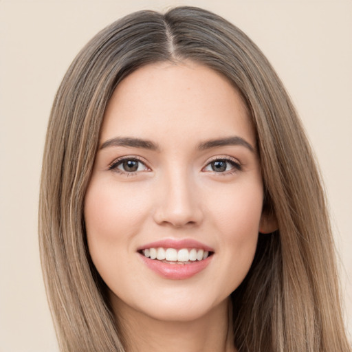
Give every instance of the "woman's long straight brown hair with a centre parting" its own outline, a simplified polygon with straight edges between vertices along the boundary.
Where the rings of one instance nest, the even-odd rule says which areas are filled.
[[[261,50],[199,8],[140,11],[99,32],[58,89],[47,129],[39,206],[41,263],[63,352],[124,351],[106,287],[87,250],[83,203],[104,110],[115,87],[149,63],[194,61],[241,93],[256,130],[263,211],[254,262],[232,293],[241,352],[351,351],[340,307],[325,193],[294,106]]]

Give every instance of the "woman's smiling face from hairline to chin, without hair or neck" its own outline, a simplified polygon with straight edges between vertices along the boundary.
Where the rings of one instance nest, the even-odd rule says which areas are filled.
[[[226,78],[158,63],[118,85],[84,210],[115,311],[192,320],[221,307],[265,232],[262,204],[254,129]]]

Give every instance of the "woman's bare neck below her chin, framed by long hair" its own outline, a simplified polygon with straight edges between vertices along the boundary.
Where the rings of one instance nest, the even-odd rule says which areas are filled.
[[[117,303],[117,304],[116,304]],[[118,306],[118,307],[117,307]],[[235,352],[230,299],[191,321],[164,321],[131,310],[121,301],[118,311],[126,352]],[[118,309],[117,309],[118,308]]]

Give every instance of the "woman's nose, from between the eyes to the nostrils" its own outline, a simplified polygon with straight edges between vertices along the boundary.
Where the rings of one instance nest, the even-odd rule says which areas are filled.
[[[201,195],[189,175],[180,173],[165,177],[155,195],[154,220],[159,225],[175,228],[199,225],[203,220]]]

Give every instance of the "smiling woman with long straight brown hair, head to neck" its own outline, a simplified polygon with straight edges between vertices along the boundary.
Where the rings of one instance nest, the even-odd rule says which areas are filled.
[[[61,351],[350,351],[292,102],[205,10],[136,12],[78,54],[48,127],[40,239]]]

